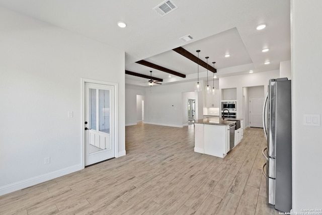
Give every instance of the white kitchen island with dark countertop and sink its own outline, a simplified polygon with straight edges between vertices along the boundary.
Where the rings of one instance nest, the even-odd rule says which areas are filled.
[[[239,143],[243,135],[237,134],[238,139],[232,140],[230,144],[231,132],[237,133],[233,128],[230,128],[236,121],[243,119],[226,118],[223,120],[220,117],[211,117],[198,119],[195,121],[195,148],[194,151],[202,154],[212,155],[219,158],[224,158],[232,147]],[[231,131],[231,129],[233,129]],[[233,135],[234,136],[234,135]]]

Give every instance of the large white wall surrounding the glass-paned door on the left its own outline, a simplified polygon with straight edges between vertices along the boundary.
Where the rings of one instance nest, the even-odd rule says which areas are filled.
[[[0,14],[0,195],[83,169],[81,78],[118,83],[125,154],[124,51],[4,8]]]

